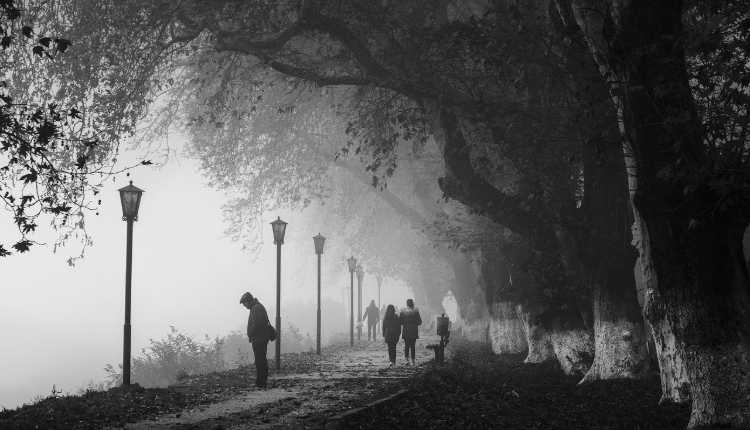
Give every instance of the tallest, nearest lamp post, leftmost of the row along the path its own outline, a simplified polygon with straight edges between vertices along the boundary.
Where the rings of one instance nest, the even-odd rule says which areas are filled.
[[[130,385],[130,282],[133,272],[133,222],[138,221],[138,208],[141,205],[143,190],[130,184],[118,190],[122,205],[122,220],[127,222],[127,243],[125,245],[125,325],[122,342],[122,385]]]

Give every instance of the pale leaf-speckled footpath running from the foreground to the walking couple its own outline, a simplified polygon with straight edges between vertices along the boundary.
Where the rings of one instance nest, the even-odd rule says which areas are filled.
[[[306,365],[292,365],[278,374],[269,375],[269,388],[258,390],[249,384],[233,390],[229,397],[204,403],[178,412],[128,423],[128,430],[146,429],[273,429],[324,428],[327,422],[347,410],[388,397],[401,390],[406,381],[423,369],[433,358],[425,345],[434,338],[417,341],[417,366],[405,365],[403,343],[399,344],[397,365],[390,367],[386,345],[382,340],[362,341],[354,349],[335,346],[324,350]],[[310,354],[307,355],[310,358]],[[273,361],[270,361],[273,367]],[[254,378],[252,366],[243,369]],[[205,377],[183,382],[194,389]],[[179,387],[178,387],[179,388]],[[216,390],[216,384],[212,384]],[[330,427],[330,425],[329,425]]]

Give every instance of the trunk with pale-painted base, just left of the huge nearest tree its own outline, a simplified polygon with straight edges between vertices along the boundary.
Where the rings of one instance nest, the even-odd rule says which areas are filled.
[[[579,255],[591,285],[594,362],[581,383],[600,379],[642,378],[649,369],[648,337],[638,306],[631,245],[630,205],[625,162],[617,135],[584,146],[584,246]]]

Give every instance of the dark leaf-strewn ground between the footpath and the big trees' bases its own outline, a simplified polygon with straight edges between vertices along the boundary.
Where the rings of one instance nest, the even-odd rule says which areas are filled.
[[[577,386],[551,364],[523,364],[462,342],[451,360],[407,384],[409,392],[354,414],[342,428],[685,429],[687,405],[658,405],[658,375]]]

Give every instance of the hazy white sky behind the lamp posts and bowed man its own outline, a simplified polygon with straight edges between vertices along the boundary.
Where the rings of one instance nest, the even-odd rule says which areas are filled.
[[[75,267],[65,262],[75,250],[53,254],[51,247],[0,261],[0,407],[48,394],[53,384],[75,391],[101,380],[105,364],[121,362],[125,223],[116,190],[128,179],[146,190],[134,228],[134,354],[149,338],[162,338],[170,325],[195,336],[241,329],[247,311],[238,301],[247,290],[266,304],[273,322],[276,254],[270,225],[263,231],[261,254],[253,260],[241,244],[224,237],[225,197],[205,185],[196,162],[175,158],[163,168],[140,168],[102,191],[100,215],[87,222],[94,246]],[[289,222],[282,249],[282,319],[314,334],[312,236],[322,223],[292,213],[267,214],[267,222],[277,215]],[[51,239],[41,233],[37,239]],[[329,238],[323,295],[341,301],[349,283],[343,255],[349,251],[335,232],[322,233]],[[0,237],[14,234],[3,215]],[[385,283],[391,285],[384,288],[383,302],[401,304],[408,294],[405,286]],[[364,303],[376,294],[374,280],[366,278]],[[310,312],[285,315],[285,306]],[[323,329],[342,331],[325,324]]]

